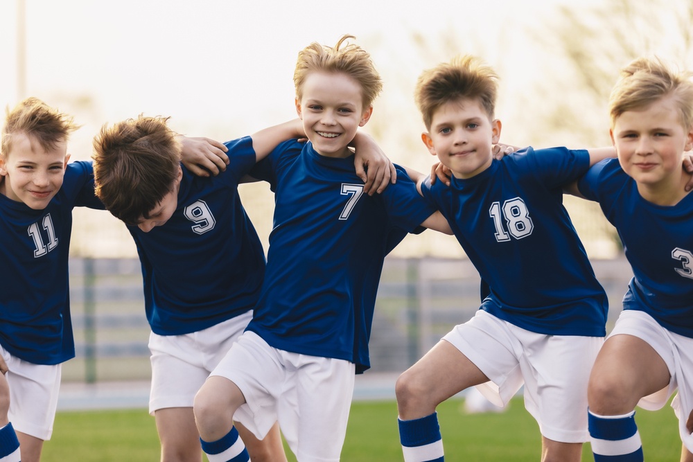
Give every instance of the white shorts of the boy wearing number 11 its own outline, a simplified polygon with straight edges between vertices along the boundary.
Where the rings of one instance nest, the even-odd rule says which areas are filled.
[[[58,408],[62,364],[34,364],[10,355],[0,346],[8,366],[8,417],[15,431],[44,441],[51,439]]]

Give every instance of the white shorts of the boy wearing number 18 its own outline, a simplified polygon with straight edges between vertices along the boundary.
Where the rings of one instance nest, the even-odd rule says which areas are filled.
[[[477,389],[493,404],[505,407],[525,384],[525,408],[543,436],[589,440],[587,383],[604,338],[538,334],[478,310],[443,339],[489,377]]]

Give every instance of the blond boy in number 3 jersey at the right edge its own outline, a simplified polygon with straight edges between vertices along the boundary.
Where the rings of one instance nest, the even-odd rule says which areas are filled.
[[[678,387],[672,407],[690,462],[693,194],[681,161],[693,149],[693,79],[645,58],[621,75],[609,104],[618,159],[578,182],[617,229],[634,275],[590,376],[590,441],[595,461],[642,461],[635,405],[660,409]]]

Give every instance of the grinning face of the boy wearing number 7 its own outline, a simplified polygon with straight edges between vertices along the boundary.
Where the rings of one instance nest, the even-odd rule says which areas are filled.
[[[373,108],[362,107],[362,88],[344,73],[310,73],[296,100],[313,148],[326,157],[348,157],[347,145],[371,116]]]

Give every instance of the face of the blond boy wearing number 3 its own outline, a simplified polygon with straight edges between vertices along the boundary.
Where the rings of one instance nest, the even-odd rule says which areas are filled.
[[[621,168],[635,179],[642,195],[679,189],[681,159],[693,148],[693,130],[683,127],[674,98],[623,112],[614,121],[611,139]]]

